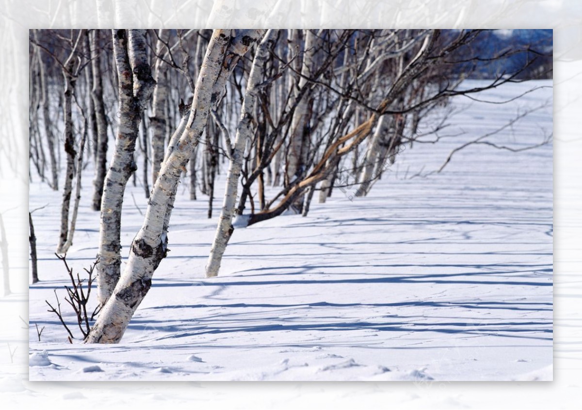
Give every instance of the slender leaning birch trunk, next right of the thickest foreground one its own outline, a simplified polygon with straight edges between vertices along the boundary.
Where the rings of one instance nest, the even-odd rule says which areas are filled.
[[[208,262],[206,264],[206,276],[208,278],[218,275],[226,244],[228,244],[230,236],[232,236],[235,230],[234,226],[232,226],[232,218],[235,214],[240,170],[243,167],[244,148],[247,142],[253,137],[253,117],[251,113],[253,112],[256,99],[255,87],[261,81],[261,67],[268,53],[269,33],[265,34],[261,44],[258,46],[249,74],[249,80],[247,80],[243,107],[240,112],[240,121],[236,127],[235,148],[231,154],[230,166],[228,168],[228,174],[226,175],[226,188],[222,210],[218,217],[217,232],[214,235],[214,242],[212,242],[212,248],[210,249],[210,255],[208,256]]]

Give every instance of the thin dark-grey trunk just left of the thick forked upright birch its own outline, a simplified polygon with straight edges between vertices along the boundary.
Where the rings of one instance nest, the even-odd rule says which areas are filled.
[[[95,179],[93,180],[93,210],[101,210],[103,185],[107,174],[107,117],[103,102],[103,83],[101,80],[101,50],[99,47],[99,30],[91,31],[91,71],[93,72],[93,89],[91,99],[95,107],[95,122],[97,123],[97,143],[95,150]]]

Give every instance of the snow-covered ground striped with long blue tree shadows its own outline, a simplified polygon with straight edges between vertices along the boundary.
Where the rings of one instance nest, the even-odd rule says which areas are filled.
[[[488,139],[513,148],[542,141],[552,130],[551,81],[479,98],[540,86],[548,87],[506,105],[453,99],[457,112],[440,135],[454,136],[407,147],[367,197],[353,195],[357,184],[335,189],[325,204],[315,195],[308,217],[237,229],[218,278],[204,278],[216,218],[205,217],[207,200],[188,199],[184,184],[171,252],[115,346],[69,344],[47,312],[57,289],[73,328],[63,301],[68,278],[53,254],[61,193],[35,179],[30,209],[46,207],[33,214],[41,282],[30,286],[30,380],[551,380],[551,144],[517,153],[473,145],[441,174],[412,178],[549,101]],[[428,132],[437,121],[420,124],[421,139],[435,139]],[[97,252],[92,176],[89,166],[68,254],[76,272]],[[143,222],[132,194],[145,211],[143,189],[130,182],[124,257]],[[45,326],[40,342],[35,323]]]

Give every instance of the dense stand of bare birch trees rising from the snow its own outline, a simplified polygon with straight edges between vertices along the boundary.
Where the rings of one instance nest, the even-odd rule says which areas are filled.
[[[180,182],[190,200],[208,202],[208,218],[218,215],[207,263],[197,267],[217,276],[235,228],[286,212],[305,216],[313,199],[324,203],[334,188],[367,195],[400,150],[413,148],[428,113],[440,110],[443,120],[424,134],[443,126],[452,96],[551,78],[551,52],[510,42],[486,51],[480,44],[490,35],[31,30],[30,178],[62,192],[55,251],[65,254],[74,243],[88,171],[100,213],[102,308],[87,343],[117,343],[148,293],[171,247],[172,208],[184,200],[176,198]],[[515,56],[517,66],[501,64]],[[485,70],[492,64],[493,74]],[[484,72],[479,87],[459,88]],[[225,189],[217,210],[219,182]],[[136,200],[147,210],[122,267],[127,184],[143,186]]]

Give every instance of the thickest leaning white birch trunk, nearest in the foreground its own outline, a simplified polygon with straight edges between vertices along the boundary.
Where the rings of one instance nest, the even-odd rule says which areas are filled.
[[[200,140],[211,106],[219,100],[225,88],[229,74],[262,34],[264,30],[215,30],[212,34],[198,75],[186,129],[168,160],[162,164],[144,223],[133,239],[123,276],[102,309],[86,343],[118,343],[150,290],[152,275],[167,251],[168,238],[164,225],[169,199]]]

